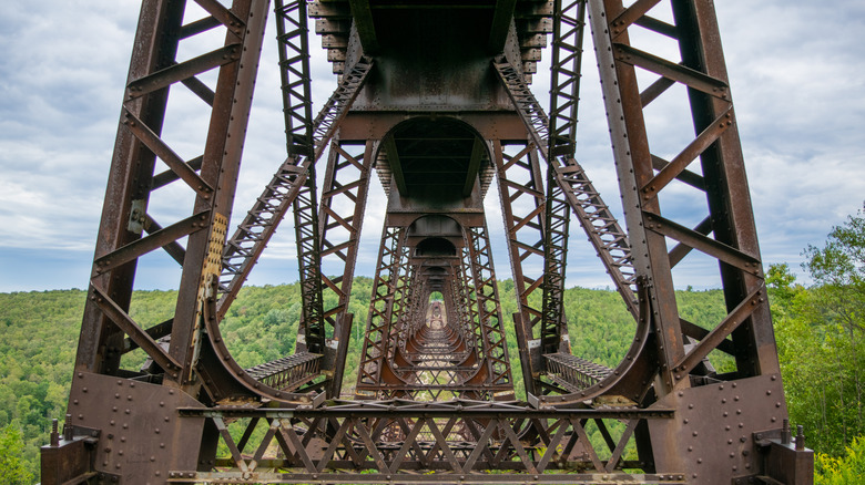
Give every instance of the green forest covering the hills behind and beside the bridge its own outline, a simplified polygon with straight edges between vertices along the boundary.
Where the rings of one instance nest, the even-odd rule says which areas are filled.
[[[786,264],[766,268],[791,423],[805,426],[807,446],[816,452],[816,483],[858,483],[865,476],[865,214],[849,216],[822,246],[808,246],[803,255],[803,269],[813,281],[807,287]],[[356,379],[372,282],[357,277],[353,287],[356,323],[344,390]],[[513,282],[499,281],[499,290],[520,389],[509,317],[517,309]],[[62,422],[65,413],[85,297],[79,289],[0,293],[0,483],[39,481],[39,447],[48,442],[51,420]],[[139,291],[130,313],[140,322],[163,321],[175,298],[174,291]],[[691,321],[718,322],[725,314],[719,289],[681,290],[676,300]],[[564,310],[573,354],[614,367],[634,329],[619,295],[570,288]],[[222,332],[240,364],[254,365],[293,351],[299,312],[296,283],[247,287]],[[723,360],[713,363],[725,365]]]

